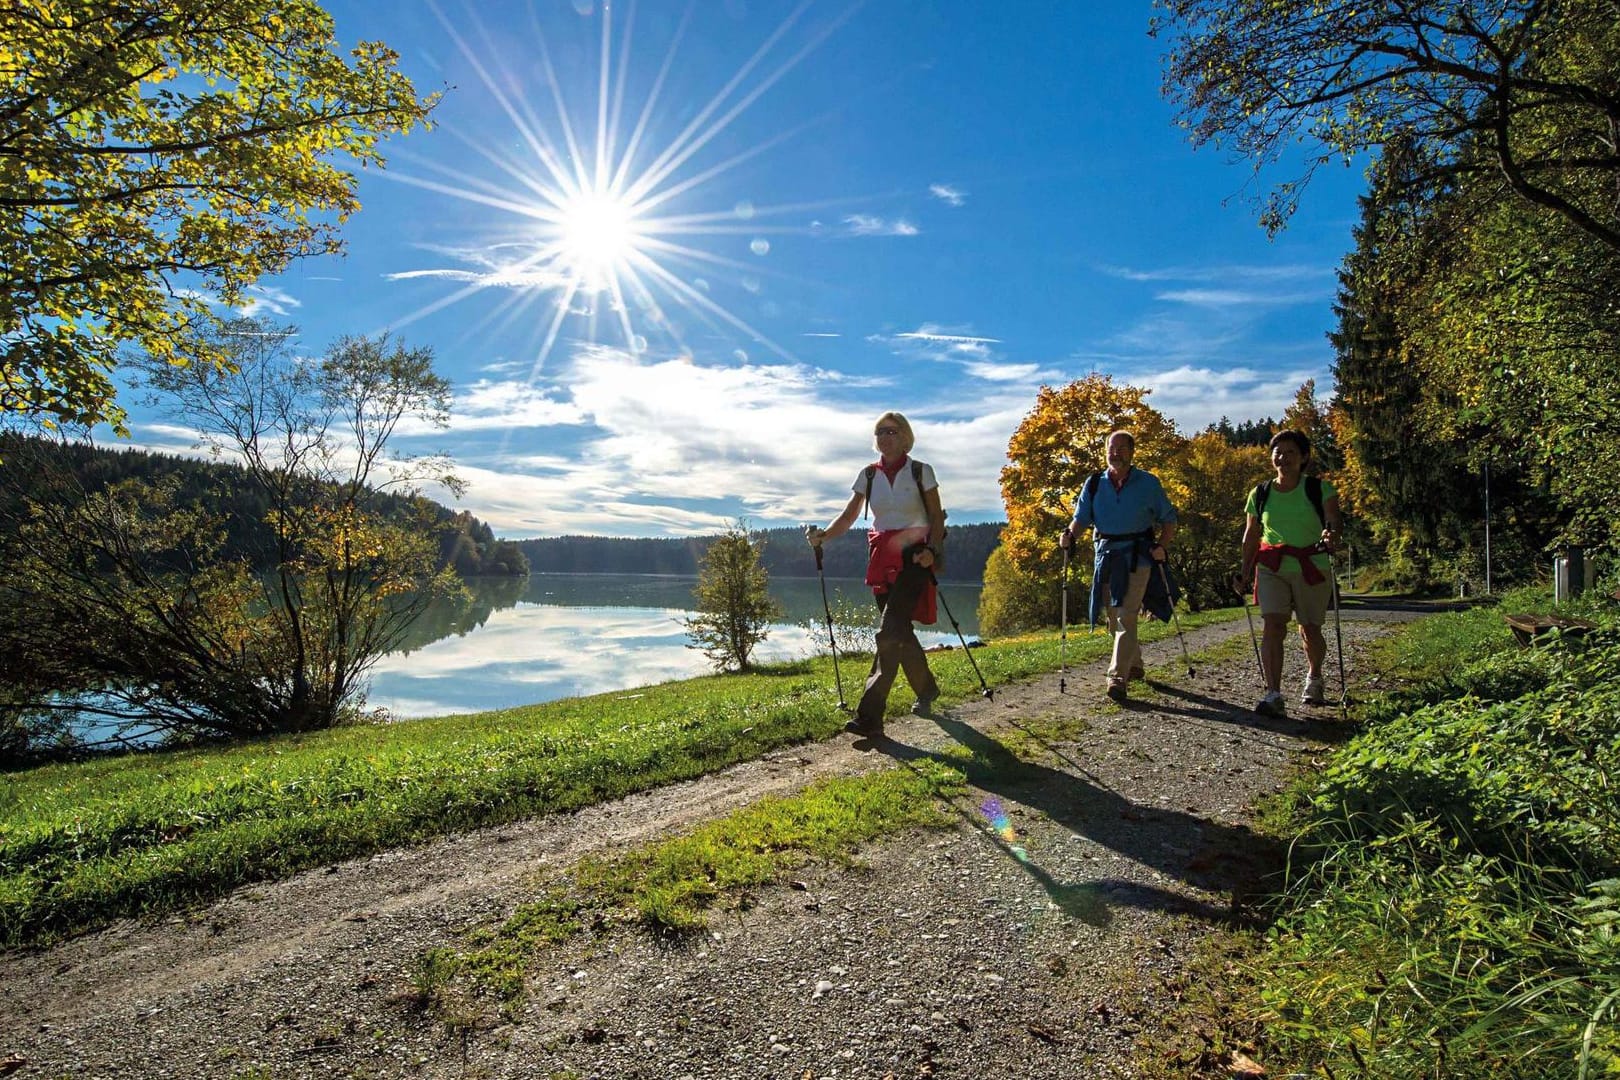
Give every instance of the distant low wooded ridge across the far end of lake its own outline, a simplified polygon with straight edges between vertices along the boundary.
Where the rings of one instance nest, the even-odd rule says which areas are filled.
[[[713,536],[687,539],[625,539],[557,536],[514,541],[533,573],[685,573],[698,572]],[[985,560],[1001,539],[1001,523],[953,525],[946,547],[946,581],[982,581]],[[773,578],[813,578],[815,555],[800,529],[765,531],[765,568]],[[859,578],[867,572],[867,534],[855,528],[826,546],[829,578]]]

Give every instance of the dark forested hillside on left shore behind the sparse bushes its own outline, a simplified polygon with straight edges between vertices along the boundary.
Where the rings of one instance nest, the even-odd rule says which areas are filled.
[[[26,439],[26,444],[23,442]],[[21,450],[26,445],[26,453]],[[258,570],[275,562],[275,544],[266,528],[269,500],[264,491],[248,483],[246,473],[227,461],[138,450],[133,447],[97,447],[84,442],[53,442],[8,436],[0,440],[0,461],[29,460],[44,468],[60,466],[86,494],[104,491],[122,481],[177,483],[177,500],[209,512],[225,529],[224,551],[246,557]],[[0,465],[5,468],[5,465]],[[13,504],[32,495],[32,486],[44,481],[44,471],[13,473],[0,484],[0,500]],[[510,541],[496,539],[494,531],[465,510],[452,510],[423,497],[377,494],[379,507],[400,521],[426,510],[439,541],[439,565],[454,567],[462,576],[528,573],[523,554]],[[15,505],[0,505],[0,521],[15,520]]]

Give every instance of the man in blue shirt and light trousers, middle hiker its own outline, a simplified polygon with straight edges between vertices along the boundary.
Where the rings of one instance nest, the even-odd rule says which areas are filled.
[[[1074,520],[1063,529],[1058,544],[1069,547],[1087,525],[1095,529],[1090,617],[1095,627],[1098,609],[1108,614],[1108,633],[1115,640],[1108,696],[1124,701],[1132,675],[1140,677],[1142,672],[1136,620],[1142,614],[1149,578],[1155,573],[1153,563],[1165,562],[1165,547],[1176,536],[1176,508],[1157,476],[1131,466],[1136,436],[1116,431],[1105,445],[1108,471],[1085,484]]]

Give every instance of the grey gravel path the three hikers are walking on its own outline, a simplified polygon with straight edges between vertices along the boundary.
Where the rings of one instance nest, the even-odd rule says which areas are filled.
[[[1356,653],[1395,617],[1346,619],[1353,688]],[[1243,622],[1187,643],[1233,635]],[[0,955],[0,1077],[1131,1077],[1165,981],[1280,858],[1249,832],[1251,805],[1343,737],[1333,708],[1249,712],[1254,654],[1244,640],[1230,656],[1187,678],[1168,638],[1124,708],[1100,665],[1071,669],[1066,693],[1051,674],[876,745],[791,748]],[[1288,664],[1294,682],[1293,643]],[[1051,717],[1087,725],[1061,743],[1021,730]],[[514,1015],[484,1004],[463,1031],[400,999],[424,949],[460,946],[585,853],[953,742],[998,767],[969,777],[949,829],[760,891],[697,941],[614,929],[559,947]],[[990,824],[998,808],[1011,836]]]

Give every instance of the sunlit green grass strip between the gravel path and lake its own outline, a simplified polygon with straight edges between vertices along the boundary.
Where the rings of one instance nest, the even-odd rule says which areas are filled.
[[[1184,627],[1231,619],[1207,612]],[[1144,625],[1144,638],[1171,633]],[[1103,656],[1071,633],[1071,664]],[[974,649],[1001,685],[1058,667],[1056,633]],[[846,696],[867,657],[844,657]],[[978,682],[936,654],[941,701]],[[828,657],[522,709],[16,772],[0,787],[0,947],[462,829],[569,811],[842,727]],[[910,696],[897,690],[891,711]]]

